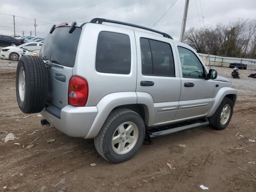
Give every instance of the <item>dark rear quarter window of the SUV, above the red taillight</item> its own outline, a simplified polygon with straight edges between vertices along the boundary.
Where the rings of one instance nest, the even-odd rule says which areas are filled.
[[[95,65],[98,72],[130,74],[131,45],[129,36],[114,32],[100,32]]]

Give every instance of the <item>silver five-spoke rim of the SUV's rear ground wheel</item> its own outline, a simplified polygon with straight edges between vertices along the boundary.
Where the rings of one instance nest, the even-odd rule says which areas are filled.
[[[134,148],[139,136],[139,130],[133,122],[122,123],[112,136],[112,149],[117,154],[126,154]]]

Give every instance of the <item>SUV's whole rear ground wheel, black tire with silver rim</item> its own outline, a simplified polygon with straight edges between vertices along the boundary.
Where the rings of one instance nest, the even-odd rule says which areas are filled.
[[[134,156],[144,136],[145,124],[141,116],[127,108],[117,108],[109,114],[94,144],[104,159],[121,163]]]

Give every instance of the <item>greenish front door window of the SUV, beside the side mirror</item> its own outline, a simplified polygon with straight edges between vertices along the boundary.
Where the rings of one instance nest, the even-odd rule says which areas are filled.
[[[190,50],[178,46],[183,77],[204,78],[204,67],[198,57]]]

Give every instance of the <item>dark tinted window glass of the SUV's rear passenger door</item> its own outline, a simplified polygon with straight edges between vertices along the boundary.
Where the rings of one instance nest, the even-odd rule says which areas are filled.
[[[140,38],[142,74],[174,76],[174,60],[170,44]]]

